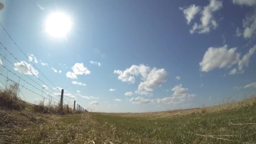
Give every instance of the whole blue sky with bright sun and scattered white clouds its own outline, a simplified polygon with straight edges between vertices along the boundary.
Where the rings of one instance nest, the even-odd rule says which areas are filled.
[[[256,0],[0,0],[0,23],[24,52],[0,27],[12,53],[0,45],[0,73],[41,96],[64,89],[70,106],[155,112],[256,93]]]

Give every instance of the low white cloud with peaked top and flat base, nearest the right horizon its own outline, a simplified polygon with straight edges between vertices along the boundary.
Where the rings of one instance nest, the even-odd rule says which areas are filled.
[[[188,94],[188,88],[182,88],[182,85],[176,85],[172,88],[173,95],[170,97],[165,97],[163,99],[157,99],[157,103],[165,104],[177,104],[187,99],[192,99],[195,97],[195,94]]]

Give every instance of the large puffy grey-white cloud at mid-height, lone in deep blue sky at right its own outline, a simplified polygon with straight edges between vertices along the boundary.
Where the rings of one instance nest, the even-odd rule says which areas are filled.
[[[220,48],[210,47],[205,52],[203,60],[199,63],[200,70],[209,72],[215,68],[231,67],[239,61],[237,48],[227,49],[227,45]]]

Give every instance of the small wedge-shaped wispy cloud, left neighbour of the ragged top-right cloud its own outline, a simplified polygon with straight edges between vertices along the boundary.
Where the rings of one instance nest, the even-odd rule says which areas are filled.
[[[195,6],[195,4],[193,4],[193,5],[190,5],[187,8],[179,7],[179,9],[181,11],[183,11],[184,16],[187,19],[187,24],[189,24],[190,21],[192,21],[192,19],[194,19],[195,15],[200,12],[201,7],[200,6]]]

